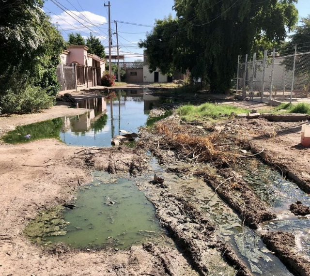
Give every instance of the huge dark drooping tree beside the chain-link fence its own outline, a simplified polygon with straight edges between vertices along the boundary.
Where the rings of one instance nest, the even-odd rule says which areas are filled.
[[[176,18],[157,20],[140,42],[150,70],[189,69],[212,92],[231,86],[238,54],[251,53],[259,41],[280,43],[297,22],[296,0],[174,0]]]

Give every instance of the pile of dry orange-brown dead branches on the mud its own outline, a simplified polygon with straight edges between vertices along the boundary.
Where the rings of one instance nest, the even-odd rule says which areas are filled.
[[[207,136],[189,134],[188,125],[180,125],[175,120],[157,123],[156,129],[171,149],[177,150],[178,157],[193,160],[195,162],[212,162],[219,167],[227,167],[235,162],[234,154],[227,143],[224,135],[212,133]]]

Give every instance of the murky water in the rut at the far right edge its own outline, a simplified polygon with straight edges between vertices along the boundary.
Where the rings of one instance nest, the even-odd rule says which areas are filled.
[[[240,171],[258,197],[277,213],[276,219],[262,225],[263,229],[293,232],[299,253],[310,260],[310,216],[296,216],[289,211],[290,205],[297,200],[309,206],[310,195],[260,161],[257,161],[255,169]]]

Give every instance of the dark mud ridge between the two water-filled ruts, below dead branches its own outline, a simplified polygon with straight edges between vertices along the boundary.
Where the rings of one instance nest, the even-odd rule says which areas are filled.
[[[218,173],[224,177],[224,181],[211,172],[203,171],[197,174],[203,176],[203,180],[233,208],[248,227],[257,229],[263,221],[277,217],[276,214],[267,210],[263,201],[232,170],[222,169]]]

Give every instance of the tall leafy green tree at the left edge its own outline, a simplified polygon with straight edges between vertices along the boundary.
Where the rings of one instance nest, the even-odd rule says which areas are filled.
[[[65,43],[43,12],[43,0],[0,1],[0,105],[3,111],[27,112],[27,102],[59,91],[56,69]],[[17,96],[19,106],[10,108],[4,98]],[[50,106],[43,96],[31,110]]]

